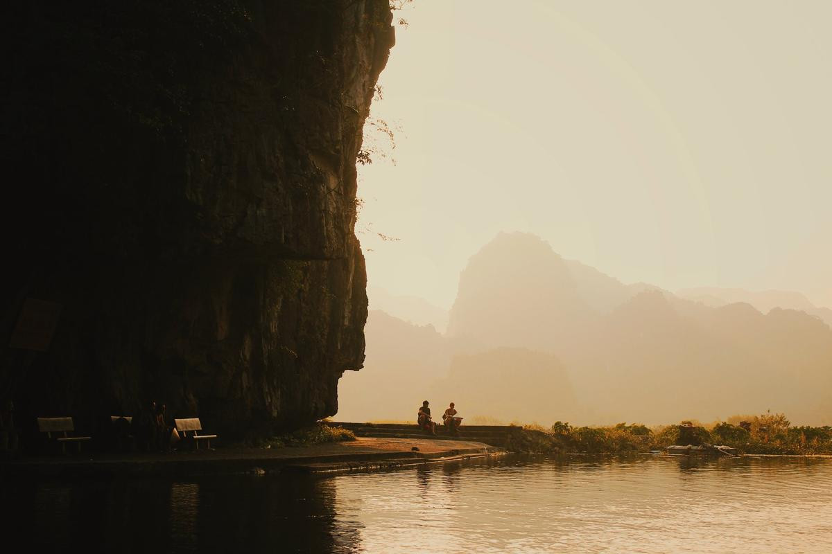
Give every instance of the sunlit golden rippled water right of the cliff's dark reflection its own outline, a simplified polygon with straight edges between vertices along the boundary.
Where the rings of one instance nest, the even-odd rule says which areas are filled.
[[[510,459],[334,480],[360,552],[832,552],[830,460]]]

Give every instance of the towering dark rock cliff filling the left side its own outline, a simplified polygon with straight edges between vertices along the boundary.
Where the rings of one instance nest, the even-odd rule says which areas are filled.
[[[94,428],[153,399],[235,435],[334,414],[364,360],[355,159],[387,0],[22,3],[0,400]],[[46,351],[12,347],[27,299],[59,310]]]

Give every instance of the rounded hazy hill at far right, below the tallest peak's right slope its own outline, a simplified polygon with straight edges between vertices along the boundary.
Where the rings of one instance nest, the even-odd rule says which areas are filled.
[[[612,312],[594,341],[596,353],[572,352],[573,379],[585,396],[603,399],[597,409],[612,419],[765,409],[807,423],[832,419],[832,333],[800,311],[764,316],[730,304],[685,312],[665,293],[642,292]]]

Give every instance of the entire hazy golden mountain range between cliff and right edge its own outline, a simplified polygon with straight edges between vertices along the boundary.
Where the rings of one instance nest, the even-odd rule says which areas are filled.
[[[789,309],[807,308],[799,296],[723,297],[627,285],[534,235],[500,233],[461,273],[445,336],[370,312],[365,368],[341,380],[339,419],[413,419],[428,399],[441,409],[453,400],[466,417],[542,424],[766,409],[832,424],[830,327]]]

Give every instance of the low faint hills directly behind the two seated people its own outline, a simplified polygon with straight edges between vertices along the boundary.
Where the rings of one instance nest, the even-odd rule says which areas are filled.
[[[369,312],[364,333],[364,369],[346,372],[339,383],[339,420],[414,420],[422,400],[431,402],[437,417],[456,402],[469,422],[476,416],[527,422],[575,414],[572,385],[554,355],[488,350],[383,311]]]

